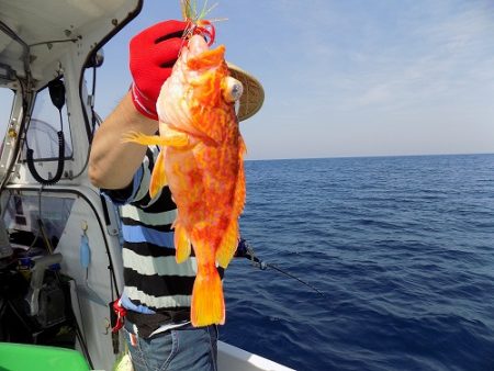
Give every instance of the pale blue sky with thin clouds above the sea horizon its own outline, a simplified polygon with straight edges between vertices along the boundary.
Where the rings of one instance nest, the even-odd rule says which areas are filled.
[[[201,0],[199,0],[201,2]],[[494,153],[493,0],[210,0],[216,45],[263,85],[248,159]],[[104,46],[97,110],[127,90],[127,45],[180,18],[145,0]]]

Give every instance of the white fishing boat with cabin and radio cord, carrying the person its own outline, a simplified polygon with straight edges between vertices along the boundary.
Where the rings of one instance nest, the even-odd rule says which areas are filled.
[[[112,370],[125,351],[117,211],[87,167],[102,47],[142,7],[0,0],[0,369]],[[290,370],[222,341],[218,368]]]

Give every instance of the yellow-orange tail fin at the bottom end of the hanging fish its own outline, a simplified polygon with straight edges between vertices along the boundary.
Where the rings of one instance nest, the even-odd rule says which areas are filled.
[[[225,323],[223,284],[214,265],[198,267],[192,290],[190,319],[195,327]]]

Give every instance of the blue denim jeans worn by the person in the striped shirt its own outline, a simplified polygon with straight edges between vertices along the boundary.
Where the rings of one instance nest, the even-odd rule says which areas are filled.
[[[193,327],[189,324],[148,339],[133,333],[133,324],[125,321],[125,340],[134,371],[217,371],[215,325]]]

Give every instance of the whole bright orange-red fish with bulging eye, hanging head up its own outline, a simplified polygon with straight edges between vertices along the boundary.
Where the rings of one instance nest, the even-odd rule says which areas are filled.
[[[246,196],[246,148],[234,108],[243,87],[229,76],[224,55],[223,45],[210,49],[203,36],[191,36],[158,98],[159,136],[131,133],[125,139],[161,148],[149,193],[166,184],[171,190],[178,207],[177,261],[194,249],[194,326],[225,322],[216,267],[226,268],[234,256]]]

